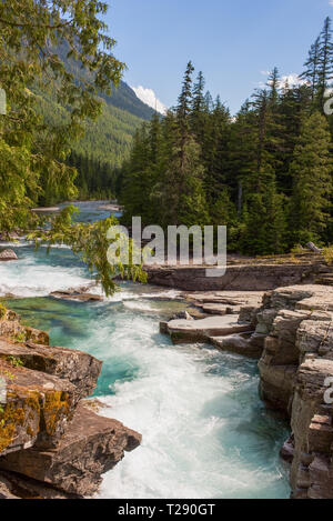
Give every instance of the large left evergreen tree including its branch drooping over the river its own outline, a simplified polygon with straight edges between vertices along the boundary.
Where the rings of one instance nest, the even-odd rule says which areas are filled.
[[[70,211],[48,223],[31,212],[41,202],[78,196],[77,170],[65,160],[103,108],[104,114],[111,110],[105,101],[125,66],[113,54],[115,41],[102,20],[107,8],[97,0],[0,3],[0,86],[8,101],[0,116],[0,230],[37,229],[30,237],[38,242],[71,246],[110,294],[115,290],[115,268],[107,259],[112,219],[73,226]],[[119,112],[121,118],[120,132],[127,124]],[[143,278],[140,267],[119,264],[118,271]]]

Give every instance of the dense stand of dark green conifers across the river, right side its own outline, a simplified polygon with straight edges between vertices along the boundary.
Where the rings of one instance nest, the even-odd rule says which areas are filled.
[[[331,21],[311,48],[306,83],[281,86],[276,68],[234,119],[192,86],[188,63],[178,107],[137,133],[120,172],[124,222],[228,226],[230,251],[266,256],[333,233],[333,118],[322,116],[333,71]],[[331,131],[330,131],[331,129]]]

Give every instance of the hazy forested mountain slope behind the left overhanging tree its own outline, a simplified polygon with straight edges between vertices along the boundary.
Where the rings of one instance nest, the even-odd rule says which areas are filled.
[[[75,61],[67,59],[63,46],[57,49],[57,53],[78,80],[82,76],[91,80],[90,72],[82,72]],[[56,101],[52,83],[47,92],[38,88],[32,90],[38,97],[39,111],[47,124],[61,124],[69,118],[65,107]],[[154,113],[124,81],[112,88],[111,96],[101,93],[100,99],[103,101],[101,117],[97,121],[85,121],[84,137],[72,143],[72,153],[68,158],[68,163],[79,172],[75,184],[81,199],[117,194],[118,170],[130,154],[133,134]]]

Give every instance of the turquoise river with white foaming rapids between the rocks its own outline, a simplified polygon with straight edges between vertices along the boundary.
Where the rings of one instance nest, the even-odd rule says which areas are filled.
[[[70,250],[16,251],[19,262],[0,264],[0,293],[24,295],[10,307],[48,330],[52,344],[103,360],[95,390],[103,413],[143,434],[105,474],[100,497],[289,497],[279,459],[289,431],[259,400],[255,361],[208,345],[173,347],[159,320],[183,308],[174,291],[124,283],[101,303],[54,300],[50,291],[89,280],[84,267]]]

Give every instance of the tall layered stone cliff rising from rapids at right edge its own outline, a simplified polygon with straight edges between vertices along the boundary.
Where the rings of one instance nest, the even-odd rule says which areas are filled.
[[[292,495],[333,498],[333,288],[296,285],[264,295],[255,334],[261,395],[291,418],[281,455],[291,462]],[[250,339],[251,340],[251,339]]]

